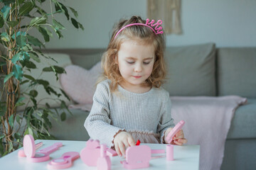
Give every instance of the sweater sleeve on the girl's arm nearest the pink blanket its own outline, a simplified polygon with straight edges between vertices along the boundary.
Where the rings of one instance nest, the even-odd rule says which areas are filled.
[[[161,107],[161,118],[157,127],[160,133],[160,141],[164,143],[164,133],[168,128],[174,128],[174,119],[171,118],[171,99],[169,94],[164,98],[163,106]]]

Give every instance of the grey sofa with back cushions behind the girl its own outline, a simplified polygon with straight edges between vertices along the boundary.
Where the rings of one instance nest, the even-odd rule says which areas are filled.
[[[55,49],[70,55],[73,64],[90,69],[105,49]],[[226,96],[247,98],[235,111],[221,169],[256,169],[256,47],[220,47],[214,43],[166,47],[171,96]],[[54,77],[53,77],[54,79]],[[88,140],[83,127],[88,112],[71,109],[64,122],[50,132],[59,140]]]

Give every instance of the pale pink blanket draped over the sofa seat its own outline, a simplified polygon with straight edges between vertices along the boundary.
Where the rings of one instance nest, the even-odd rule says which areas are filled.
[[[225,139],[238,106],[246,103],[240,96],[171,97],[174,123],[185,120],[183,132],[188,145],[200,145],[199,169],[220,169]]]

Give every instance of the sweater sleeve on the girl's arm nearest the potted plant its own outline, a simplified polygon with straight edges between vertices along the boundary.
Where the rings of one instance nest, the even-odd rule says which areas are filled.
[[[85,120],[85,129],[93,140],[112,147],[114,135],[124,130],[110,125],[110,90],[105,84],[97,84],[90,114]]]

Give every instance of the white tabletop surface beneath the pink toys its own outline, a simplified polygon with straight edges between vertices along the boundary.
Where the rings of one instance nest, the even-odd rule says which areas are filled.
[[[85,141],[68,141],[68,140],[36,140],[35,143],[43,142],[43,146],[40,149],[53,145],[55,142],[63,142],[63,147],[60,147],[57,151],[50,154],[50,160],[61,157],[65,152],[80,152],[86,145]],[[165,149],[166,145],[159,144],[141,144],[148,145],[151,149]],[[23,149],[23,148],[21,148]],[[174,146],[174,161],[166,161],[166,157],[151,159],[148,169],[198,169],[199,166],[199,145],[183,145]],[[161,154],[154,154],[161,155]],[[1,169],[26,169],[26,170],[41,170],[47,169],[48,162],[33,163],[28,162],[26,157],[18,157],[18,150],[7,154],[0,159]],[[121,157],[111,157],[112,166],[111,169],[124,169],[120,161],[124,160]],[[87,166],[82,162],[82,159],[76,159],[71,169],[96,169],[95,166]]]

